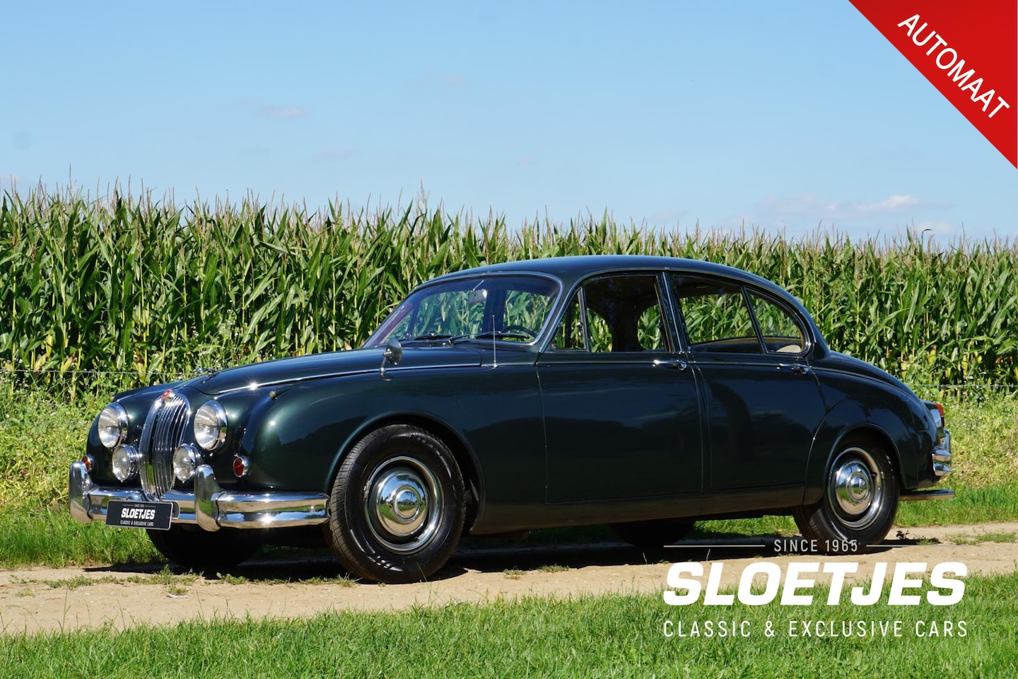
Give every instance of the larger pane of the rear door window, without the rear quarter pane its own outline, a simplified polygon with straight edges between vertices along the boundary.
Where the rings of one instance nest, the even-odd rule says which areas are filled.
[[[740,286],[684,276],[673,282],[692,351],[762,353]]]

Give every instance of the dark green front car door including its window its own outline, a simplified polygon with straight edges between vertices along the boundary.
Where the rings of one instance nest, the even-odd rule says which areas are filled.
[[[539,358],[550,503],[701,490],[696,383],[663,292],[658,273],[584,282]]]

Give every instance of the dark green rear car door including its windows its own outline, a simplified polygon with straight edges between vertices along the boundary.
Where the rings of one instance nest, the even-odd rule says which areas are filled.
[[[825,413],[803,322],[739,282],[670,274],[669,283],[702,387],[708,489],[801,485]]]

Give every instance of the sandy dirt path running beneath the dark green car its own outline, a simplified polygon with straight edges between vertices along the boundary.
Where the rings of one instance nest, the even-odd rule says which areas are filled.
[[[745,544],[750,541],[724,545],[699,541],[654,554],[620,544],[527,547],[523,543],[459,550],[435,581],[401,585],[344,581],[335,562],[327,559],[256,562],[223,579],[160,574],[162,564],[32,568],[0,571],[0,629],[6,634],[123,629],[193,618],[304,618],[330,610],[388,611],[523,596],[661,592],[676,561],[730,564],[725,569],[726,585],[735,584],[743,566],[759,559],[779,564],[854,561],[860,564],[854,579],[868,577],[872,564],[882,561],[926,562],[929,567],[960,561],[970,574],[1000,573],[1018,569],[1016,534],[1018,523],[903,528],[892,530],[887,549],[850,557],[776,556],[774,539],[754,539],[755,546]]]

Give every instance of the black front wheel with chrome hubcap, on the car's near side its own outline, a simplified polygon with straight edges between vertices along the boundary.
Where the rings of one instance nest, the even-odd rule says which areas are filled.
[[[459,465],[442,441],[416,427],[383,427],[339,467],[326,542],[354,577],[417,582],[456,549],[464,504]]]

